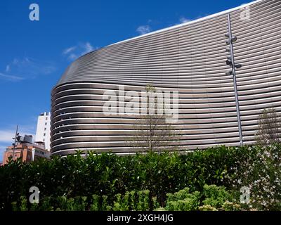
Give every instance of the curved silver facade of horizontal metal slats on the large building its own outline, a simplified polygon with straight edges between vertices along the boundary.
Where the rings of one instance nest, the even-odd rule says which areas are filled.
[[[281,112],[281,1],[249,4],[106,46],[75,60],[53,88],[52,154],[74,150],[128,153],[136,117],[103,113],[103,93],[147,84],[179,91],[179,148],[239,146],[233,78],[226,75],[227,13],[232,20],[242,135],[253,143],[263,108]]]

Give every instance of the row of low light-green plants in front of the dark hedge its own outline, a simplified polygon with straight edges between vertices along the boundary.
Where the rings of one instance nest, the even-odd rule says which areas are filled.
[[[204,186],[206,190],[211,190],[211,198],[213,202],[220,202],[221,196],[226,195],[226,190],[223,187],[217,186]],[[21,196],[18,203],[14,202],[14,211],[194,211],[194,210],[216,210],[214,205],[203,205],[207,196],[206,190],[202,193],[194,191],[190,193],[189,188],[183,188],[176,193],[168,193],[167,200],[164,207],[159,207],[156,198],[149,198],[150,191],[131,191],[126,192],[124,195],[118,193],[114,197],[114,202],[110,203],[107,195],[93,195],[91,198],[85,196],[76,196],[74,198],[67,198],[65,196],[58,196],[57,198],[44,198],[39,204],[27,204],[25,196]],[[219,193],[216,193],[219,192]],[[216,194],[214,194],[216,193]],[[223,194],[222,194],[223,193]],[[228,193],[229,199],[230,194]],[[216,200],[216,197],[218,200]],[[225,202],[223,204],[217,204],[217,207],[221,207],[222,210],[241,210],[240,205],[235,203]],[[150,208],[150,206],[152,206]]]

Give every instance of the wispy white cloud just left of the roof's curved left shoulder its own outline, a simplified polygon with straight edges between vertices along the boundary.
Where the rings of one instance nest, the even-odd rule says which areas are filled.
[[[90,51],[98,49],[97,47],[93,47],[90,42],[79,43],[77,46],[72,46],[63,50],[63,55],[66,56],[69,60],[75,60],[80,56],[89,53]]]

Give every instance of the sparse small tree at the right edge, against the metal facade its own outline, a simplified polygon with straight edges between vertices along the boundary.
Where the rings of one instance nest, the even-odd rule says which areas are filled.
[[[256,143],[260,146],[280,143],[280,116],[274,108],[263,109],[259,116],[259,127],[256,132]]]

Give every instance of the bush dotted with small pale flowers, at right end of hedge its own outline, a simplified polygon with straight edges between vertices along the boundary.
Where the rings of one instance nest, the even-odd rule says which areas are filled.
[[[249,188],[249,204],[258,210],[281,210],[281,148],[251,146],[249,153],[233,163],[233,189]]]

